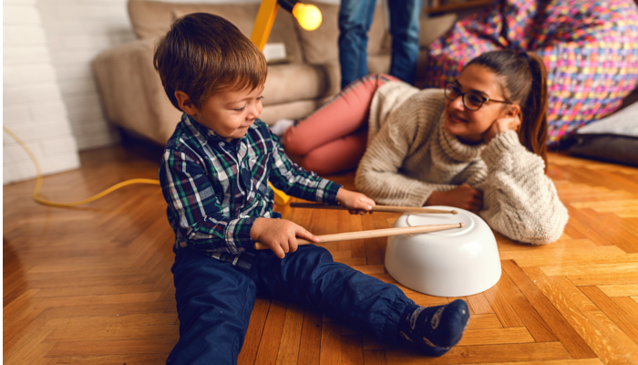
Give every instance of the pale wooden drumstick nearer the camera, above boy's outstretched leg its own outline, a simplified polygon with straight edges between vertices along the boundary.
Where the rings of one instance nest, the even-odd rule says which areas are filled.
[[[349,241],[349,240],[355,240],[355,239],[389,237],[390,235],[427,234],[428,232],[445,231],[446,229],[462,228],[464,226],[465,226],[464,223],[423,224],[423,225],[416,225],[413,227],[372,229],[369,231],[347,232],[345,234],[318,235],[317,237],[319,237],[319,242],[312,242],[304,238],[297,238],[297,245],[325,244],[328,242]],[[256,250],[265,250],[267,248],[268,248],[267,245],[263,245],[261,242],[255,242]]]

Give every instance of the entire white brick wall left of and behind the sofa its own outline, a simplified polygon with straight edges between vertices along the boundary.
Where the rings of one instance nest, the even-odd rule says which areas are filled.
[[[127,0],[5,0],[3,5],[4,123],[28,142],[43,171],[76,168],[77,151],[118,143],[102,113],[90,61],[135,38]],[[3,183],[35,177],[26,153],[10,137],[3,141]]]

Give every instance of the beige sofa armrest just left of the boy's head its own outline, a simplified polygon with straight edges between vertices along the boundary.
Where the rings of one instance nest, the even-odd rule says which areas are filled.
[[[108,121],[166,144],[180,121],[153,68],[157,38],[110,48],[91,62]]]

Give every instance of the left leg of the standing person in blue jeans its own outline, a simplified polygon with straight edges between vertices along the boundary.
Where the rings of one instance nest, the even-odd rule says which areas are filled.
[[[341,89],[367,75],[367,32],[376,0],[341,0],[339,7],[339,63]]]

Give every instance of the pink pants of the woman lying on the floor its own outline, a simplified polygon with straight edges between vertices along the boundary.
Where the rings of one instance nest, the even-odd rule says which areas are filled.
[[[367,120],[376,89],[389,75],[368,75],[348,85],[303,120],[286,130],[283,146],[288,154],[301,156],[299,164],[319,175],[356,168],[365,152]]]

